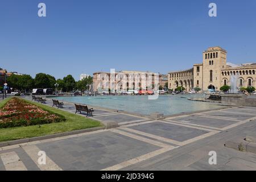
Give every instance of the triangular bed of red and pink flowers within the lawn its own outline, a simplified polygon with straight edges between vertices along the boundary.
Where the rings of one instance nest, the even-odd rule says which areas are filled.
[[[65,121],[62,115],[43,110],[19,98],[12,98],[0,109],[0,128],[42,125]]]

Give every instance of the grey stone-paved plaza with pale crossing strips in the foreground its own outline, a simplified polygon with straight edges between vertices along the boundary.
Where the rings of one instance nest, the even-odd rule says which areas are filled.
[[[63,109],[75,113],[72,104]],[[255,110],[234,107],[154,121],[95,109],[94,119],[119,127],[2,147],[0,170],[256,170],[256,154],[224,146],[255,133]],[[38,164],[39,151],[46,152],[46,165]],[[216,165],[208,163],[209,151],[216,151]]]

